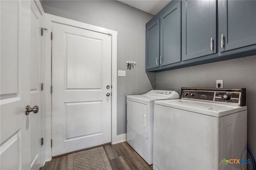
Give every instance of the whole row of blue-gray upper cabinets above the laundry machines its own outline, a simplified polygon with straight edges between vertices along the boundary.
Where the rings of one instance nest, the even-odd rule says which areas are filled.
[[[146,71],[250,55],[256,0],[172,0],[146,24]]]

